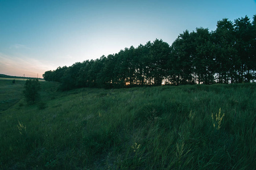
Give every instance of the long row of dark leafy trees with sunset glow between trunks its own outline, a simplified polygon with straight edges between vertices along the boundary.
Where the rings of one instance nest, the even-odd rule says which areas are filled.
[[[122,88],[161,84],[242,83],[256,80],[256,15],[222,19],[215,31],[181,33],[170,46],[163,40],[131,46],[100,59],[46,71],[45,80],[63,90]]]

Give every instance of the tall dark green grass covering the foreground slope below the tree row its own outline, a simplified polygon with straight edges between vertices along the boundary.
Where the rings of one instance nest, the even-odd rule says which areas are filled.
[[[41,84],[39,104],[21,98],[0,113],[2,169],[255,168],[256,84]]]

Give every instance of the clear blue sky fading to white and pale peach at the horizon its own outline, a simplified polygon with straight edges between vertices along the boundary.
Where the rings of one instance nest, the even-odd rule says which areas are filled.
[[[0,0],[0,74],[42,78],[48,70],[162,39],[218,20],[253,20],[256,0]]]

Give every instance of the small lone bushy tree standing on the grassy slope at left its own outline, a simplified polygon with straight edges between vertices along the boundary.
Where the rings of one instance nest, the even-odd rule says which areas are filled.
[[[26,80],[24,88],[23,94],[27,103],[35,103],[35,101],[39,99],[40,83],[38,79]]]

